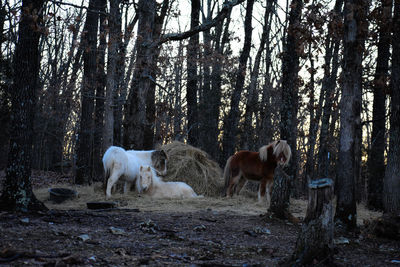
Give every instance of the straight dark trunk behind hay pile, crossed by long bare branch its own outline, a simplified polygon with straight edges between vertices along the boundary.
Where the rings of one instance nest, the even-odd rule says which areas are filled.
[[[192,1],[192,13],[190,28],[199,26],[200,0]],[[195,34],[189,39],[187,48],[187,133],[188,142],[192,146],[197,146],[199,142],[198,122],[199,114],[197,107],[198,76],[197,62],[199,57],[199,35]]]

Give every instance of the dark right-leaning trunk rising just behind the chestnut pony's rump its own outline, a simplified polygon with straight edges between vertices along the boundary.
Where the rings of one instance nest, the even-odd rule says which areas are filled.
[[[240,119],[239,102],[244,87],[244,79],[247,70],[247,60],[249,58],[251,48],[251,34],[253,31],[251,20],[253,15],[253,6],[254,0],[247,0],[246,17],[244,21],[244,44],[242,53],[240,54],[239,58],[238,70],[236,71],[236,83],[231,96],[230,110],[226,121],[224,122],[224,136],[222,139],[223,151],[221,162],[225,162],[228,157],[233,155],[236,148],[236,134],[238,132],[237,126]]]

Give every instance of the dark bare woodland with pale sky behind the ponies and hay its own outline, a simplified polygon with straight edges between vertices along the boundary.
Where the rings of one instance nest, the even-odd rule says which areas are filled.
[[[346,224],[357,201],[398,212],[399,20],[399,0],[2,0],[2,197],[31,168],[102,181],[110,145],[223,167],[285,139],[293,196],[331,177]]]

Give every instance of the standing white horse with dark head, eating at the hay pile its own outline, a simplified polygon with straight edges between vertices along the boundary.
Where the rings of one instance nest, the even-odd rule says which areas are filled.
[[[105,172],[106,198],[111,197],[111,188],[119,180],[124,180],[124,193],[128,185],[135,182],[139,176],[141,165],[152,166],[160,175],[167,173],[167,154],[163,150],[125,150],[121,147],[111,146],[103,156]]]

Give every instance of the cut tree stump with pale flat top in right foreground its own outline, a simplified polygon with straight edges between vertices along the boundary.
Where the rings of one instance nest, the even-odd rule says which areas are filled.
[[[293,260],[305,265],[332,260],[333,255],[333,181],[323,178],[312,181],[306,218],[297,238]]]

